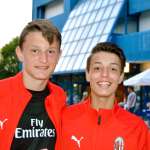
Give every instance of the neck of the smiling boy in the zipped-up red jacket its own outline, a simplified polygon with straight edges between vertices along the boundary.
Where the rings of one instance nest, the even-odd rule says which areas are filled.
[[[115,98],[111,97],[95,97],[91,95],[91,105],[94,109],[112,109],[114,106]]]

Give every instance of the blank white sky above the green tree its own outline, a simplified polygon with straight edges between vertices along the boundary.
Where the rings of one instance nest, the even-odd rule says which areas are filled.
[[[1,0],[0,48],[19,36],[24,26],[32,20],[32,0]]]

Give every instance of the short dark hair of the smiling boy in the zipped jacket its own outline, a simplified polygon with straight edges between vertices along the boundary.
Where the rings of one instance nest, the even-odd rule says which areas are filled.
[[[116,54],[120,61],[121,61],[121,72],[123,72],[124,67],[125,67],[125,62],[126,62],[126,57],[123,53],[123,50],[119,48],[116,44],[112,42],[103,42],[103,43],[98,43],[91,52],[91,55],[87,59],[87,66],[86,70],[89,72],[90,69],[90,63],[91,63],[91,58],[93,54],[98,53],[98,52],[108,52],[108,53],[113,53]]]

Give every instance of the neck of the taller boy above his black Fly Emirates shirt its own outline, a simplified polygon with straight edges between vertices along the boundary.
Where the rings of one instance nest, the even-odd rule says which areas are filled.
[[[23,75],[23,83],[25,88],[32,91],[42,91],[47,86],[48,80],[37,80],[30,76]]]

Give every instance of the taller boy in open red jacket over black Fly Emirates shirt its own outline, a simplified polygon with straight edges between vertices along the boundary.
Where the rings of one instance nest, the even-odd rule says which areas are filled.
[[[49,79],[61,55],[61,34],[49,20],[29,22],[16,54],[22,71],[0,80],[0,150],[60,150],[66,96]]]

